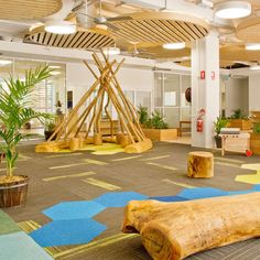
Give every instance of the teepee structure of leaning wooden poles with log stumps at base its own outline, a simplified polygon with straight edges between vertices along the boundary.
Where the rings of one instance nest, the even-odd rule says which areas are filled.
[[[116,134],[117,142],[126,147],[126,152],[139,153],[152,148],[151,140],[144,137],[140,127],[136,108],[123,95],[116,77],[124,59],[119,64],[117,64],[116,59],[109,62],[102,52],[101,57],[93,53],[95,65],[100,75],[97,75],[89,64],[84,61],[95,77],[95,83],[80,98],[71,113],[56,128],[48,141],[36,147],[37,152],[53,152],[58,148],[65,147],[69,147],[72,150],[78,150],[84,144],[91,142],[94,144],[102,144],[102,134],[100,131],[102,112],[106,113],[110,121],[110,140]],[[116,69],[113,69],[115,65]],[[106,104],[105,96],[107,96]],[[89,105],[85,108],[85,104]],[[118,115],[120,131],[117,133],[113,132],[113,120],[108,111],[110,104]],[[84,131],[86,123],[87,129]],[[54,137],[55,141],[50,141]]]

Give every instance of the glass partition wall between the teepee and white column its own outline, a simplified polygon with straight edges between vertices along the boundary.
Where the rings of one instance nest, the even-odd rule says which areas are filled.
[[[191,104],[185,91],[191,87],[189,75],[154,73],[154,110],[159,110],[170,128],[191,120]]]

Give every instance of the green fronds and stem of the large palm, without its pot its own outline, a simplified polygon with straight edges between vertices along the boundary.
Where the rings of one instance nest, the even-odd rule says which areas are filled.
[[[34,86],[50,77],[51,71],[47,66],[39,67],[34,72],[26,72],[24,82],[10,76],[4,80],[7,88],[0,85],[0,121],[2,124],[0,138],[3,141],[0,148],[6,153],[7,177],[13,176],[19,155],[17,145],[23,138],[20,132],[22,127],[32,119],[44,122],[44,119],[51,118],[48,113],[34,111],[30,107]]]

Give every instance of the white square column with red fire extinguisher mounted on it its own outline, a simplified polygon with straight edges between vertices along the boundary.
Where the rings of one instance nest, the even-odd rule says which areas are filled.
[[[205,72],[205,79],[201,73]],[[214,121],[219,116],[219,39],[213,31],[192,46],[192,147],[214,147]],[[203,132],[197,132],[198,111],[205,109]]]

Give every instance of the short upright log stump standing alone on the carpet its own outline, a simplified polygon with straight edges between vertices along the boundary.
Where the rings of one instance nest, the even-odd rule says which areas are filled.
[[[189,152],[187,159],[188,177],[213,177],[214,156],[210,152]]]

